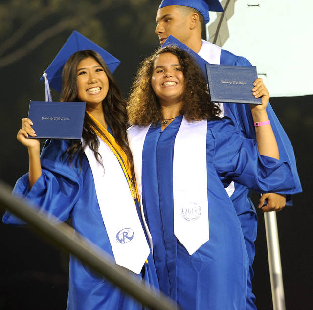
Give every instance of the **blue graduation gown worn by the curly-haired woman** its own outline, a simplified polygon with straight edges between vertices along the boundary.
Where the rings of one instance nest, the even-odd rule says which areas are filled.
[[[181,119],[177,117],[164,131],[160,125],[151,126],[142,154],[142,199],[160,289],[185,310],[243,310],[249,260],[240,221],[224,185],[235,180],[255,190],[284,190],[294,186],[291,172],[285,163],[259,155],[255,141],[243,138],[230,119],[209,121],[210,239],[189,255],[173,228],[173,152]],[[192,163],[188,165],[192,168]]]

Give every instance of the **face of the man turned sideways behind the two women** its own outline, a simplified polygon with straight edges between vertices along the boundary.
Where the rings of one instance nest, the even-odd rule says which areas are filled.
[[[159,9],[156,15],[156,24],[156,34],[161,45],[169,35],[185,45],[188,45],[191,40],[190,16],[185,14],[177,5],[169,5]]]

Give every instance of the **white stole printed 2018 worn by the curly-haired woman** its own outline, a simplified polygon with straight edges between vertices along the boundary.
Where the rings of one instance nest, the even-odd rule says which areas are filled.
[[[149,127],[128,129],[141,205],[142,150]],[[174,145],[174,233],[190,255],[209,240],[206,131],[206,120],[189,123],[183,118]]]

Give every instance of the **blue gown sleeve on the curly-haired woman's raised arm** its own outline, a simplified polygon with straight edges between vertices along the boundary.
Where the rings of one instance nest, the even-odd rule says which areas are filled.
[[[208,131],[212,140],[208,140],[207,152],[212,152],[224,185],[233,180],[258,192],[275,193],[294,188],[288,163],[260,155],[256,141],[245,138],[229,118],[208,122]]]

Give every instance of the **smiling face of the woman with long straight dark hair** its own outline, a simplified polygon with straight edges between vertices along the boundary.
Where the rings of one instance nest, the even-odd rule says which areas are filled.
[[[87,57],[77,65],[78,98],[95,107],[108,94],[109,80],[103,67],[92,57]]]

